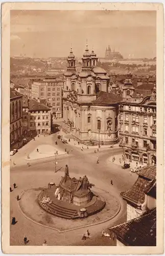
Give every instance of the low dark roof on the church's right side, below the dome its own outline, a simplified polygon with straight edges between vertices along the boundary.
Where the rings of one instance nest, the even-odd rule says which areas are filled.
[[[122,96],[114,93],[100,92],[98,98],[93,101],[93,104],[115,104],[122,101]]]

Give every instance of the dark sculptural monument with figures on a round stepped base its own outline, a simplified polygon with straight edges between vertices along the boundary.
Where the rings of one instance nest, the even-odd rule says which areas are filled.
[[[84,218],[96,214],[105,206],[105,200],[91,191],[95,185],[88,181],[87,176],[70,178],[67,165],[60,183],[52,184],[54,185],[50,186],[49,183],[48,188],[39,194],[38,203],[55,216],[66,219]]]

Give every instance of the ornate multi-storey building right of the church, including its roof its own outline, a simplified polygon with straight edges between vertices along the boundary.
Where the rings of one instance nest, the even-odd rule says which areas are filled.
[[[155,84],[123,88],[118,123],[125,160],[156,165]]]

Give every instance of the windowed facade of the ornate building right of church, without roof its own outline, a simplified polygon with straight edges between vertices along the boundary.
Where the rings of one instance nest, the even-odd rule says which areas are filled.
[[[156,105],[124,104],[119,124],[126,158],[152,164],[152,155],[156,156]]]

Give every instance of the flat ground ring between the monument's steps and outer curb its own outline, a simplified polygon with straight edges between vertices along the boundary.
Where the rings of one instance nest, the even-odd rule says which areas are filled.
[[[97,214],[84,219],[63,219],[49,214],[39,206],[38,195],[41,190],[42,188],[39,187],[23,191],[21,200],[18,204],[19,210],[28,220],[45,228],[54,229],[59,233],[107,222],[118,215],[121,209],[121,204],[116,197],[106,190],[95,187],[95,190],[93,189],[93,191],[97,192],[106,201],[104,209]]]

